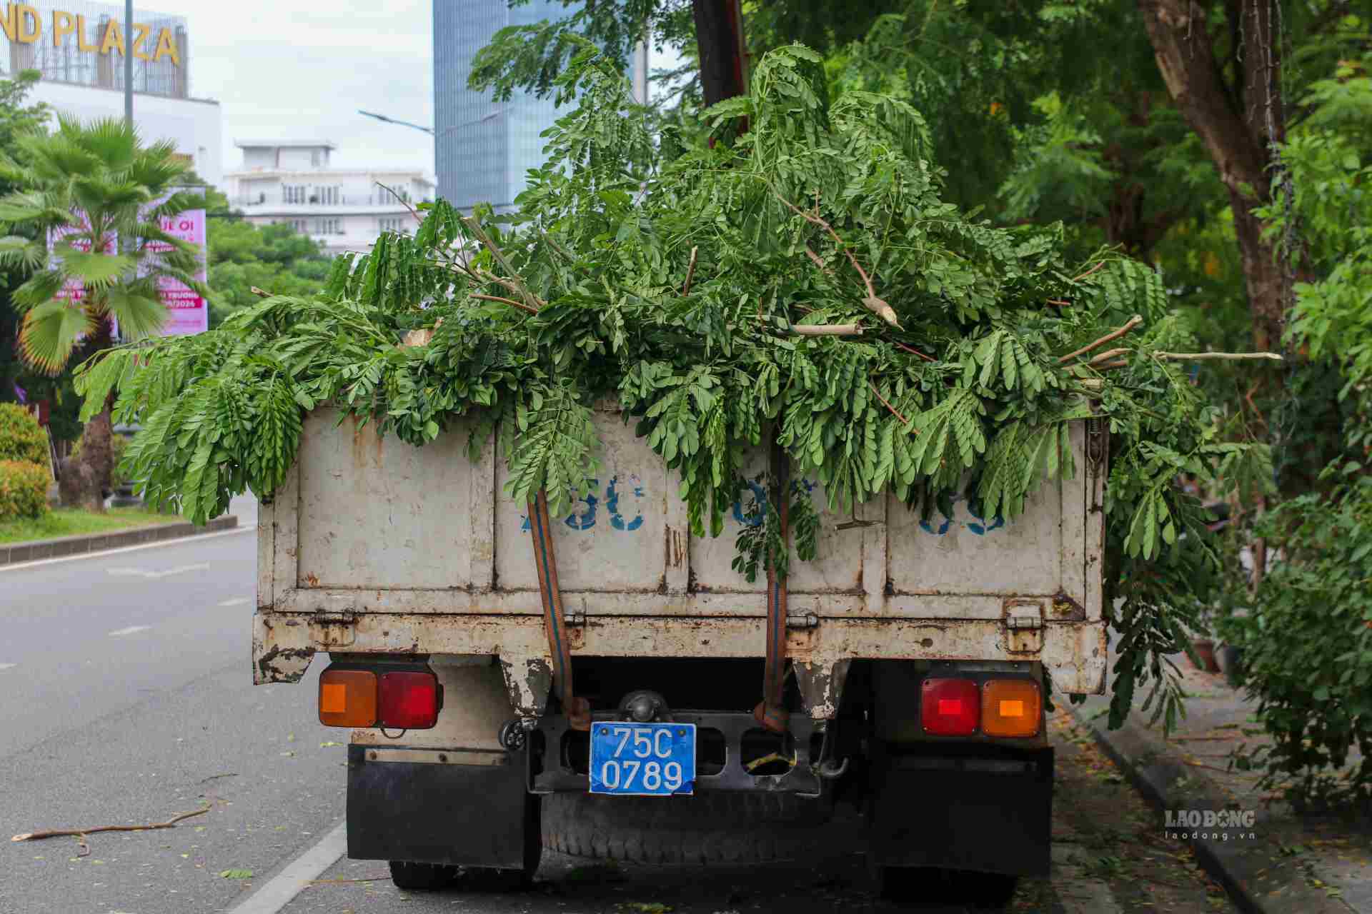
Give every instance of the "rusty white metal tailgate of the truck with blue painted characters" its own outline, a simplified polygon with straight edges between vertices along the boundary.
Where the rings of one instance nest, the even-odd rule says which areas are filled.
[[[617,412],[597,423],[600,469],[553,532],[573,654],[761,656],[764,581],[731,567],[761,489],[720,537],[693,537],[675,471]],[[895,497],[823,510],[819,559],[792,565],[788,654],[826,676],[855,658],[1041,660],[1056,689],[1102,692],[1106,466],[1088,434],[1073,425],[1076,475],[1044,482],[1013,521],[965,499],[927,519]],[[504,495],[494,444],[476,462],[466,448],[462,426],[416,448],[329,410],[306,418],[259,514],[258,681],[299,678],[329,650],[546,666],[528,508]]]

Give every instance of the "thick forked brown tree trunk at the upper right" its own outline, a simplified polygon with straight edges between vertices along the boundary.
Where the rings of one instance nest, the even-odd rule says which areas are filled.
[[[1229,0],[1232,32],[1242,34],[1243,85],[1221,78],[1206,22],[1194,0],[1139,0],[1158,69],[1187,123],[1205,143],[1229,192],[1258,349],[1280,345],[1291,281],[1254,210],[1272,200],[1269,144],[1284,138],[1277,73],[1279,42],[1268,0]],[[1239,26],[1235,29],[1233,26]]]

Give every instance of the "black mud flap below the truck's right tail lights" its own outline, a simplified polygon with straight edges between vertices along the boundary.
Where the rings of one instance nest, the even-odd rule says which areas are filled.
[[[873,863],[1048,874],[1051,747],[903,747],[874,761]]]

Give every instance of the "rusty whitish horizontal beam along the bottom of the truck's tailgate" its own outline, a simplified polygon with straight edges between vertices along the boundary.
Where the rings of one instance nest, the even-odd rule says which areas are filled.
[[[366,606],[314,613],[305,610],[329,606],[331,592],[309,596],[300,611],[259,608],[252,617],[254,682],[296,682],[317,651],[494,655],[505,667],[517,715],[542,717],[552,658],[541,615],[395,613]],[[359,599],[351,591],[338,596],[340,607],[355,607]],[[1050,618],[1037,650],[1015,651],[1000,618],[830,615],[836,608],[826,603],[812,626],[786,633],[786,656],[796,665],[805,711],[816,719],[837,713],[844,670],[855,659],[1041,663],[1058,693],[1104,692],[1106,626],[1100,621]],[[584,625],[568,629],[568,643],[573,658],[760,658],[767,652],[764,629],[760,615],[587,615]]]

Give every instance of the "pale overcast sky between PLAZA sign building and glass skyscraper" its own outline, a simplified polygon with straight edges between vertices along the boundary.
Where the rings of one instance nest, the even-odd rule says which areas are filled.
[[[332,140],[333,167],[434,173],[434,140],[358,108],[434,123],[435,0],[139,0],[187,18],[191,93],[224,111],[224,169],[244,138]]]

